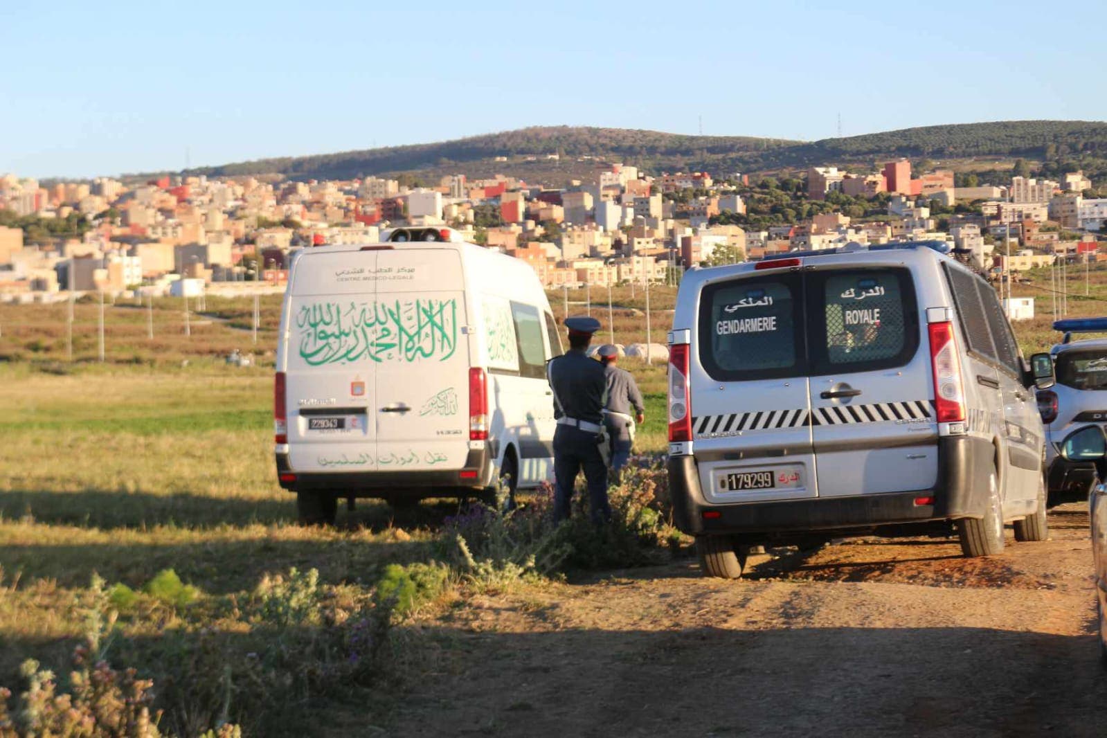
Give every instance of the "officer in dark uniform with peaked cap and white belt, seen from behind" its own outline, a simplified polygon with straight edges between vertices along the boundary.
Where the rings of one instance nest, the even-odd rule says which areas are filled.
[[[603,366],[584,353],[592,334],[600,330],[594,318],[567,318],[569,351],[550,361],[547,375],[554,391],[554,519],[566,520],[577,474],[588,481],[592,521],[611,519],[608,505],[608,465],[600,450],[607,375]]]

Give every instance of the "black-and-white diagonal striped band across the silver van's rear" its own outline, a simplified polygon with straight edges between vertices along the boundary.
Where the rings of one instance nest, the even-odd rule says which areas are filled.
[[[912,423],[933,419],[929,399],[869,405],[830,405],[806,409],[758,410],[730,415],[701,415],[692,418],[696,436],[733,436],[739,432],[801,428],[806,426],[851,425],[856,423]]]

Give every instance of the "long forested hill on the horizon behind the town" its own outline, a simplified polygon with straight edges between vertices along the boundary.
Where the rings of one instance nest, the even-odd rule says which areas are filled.
[[[558,154],[558,164],[547,164]],[[279,174],[296,179],[343,179],[403,171],[487,176],[531,174],[549,167],[569,174],[572,163],[624,162],[646,171],[707,169],[758,171],[819,164],[872,163],[890,157],[955,158],[1024,156],[1107,158],[1107,123],[1007,121],[904,128],[884,133],[794,142],[749,136],[687,136],[625,128],[546,126],[434,144],[391,146],[337,154],[282,157],[189,169],[188,174],[232,176]],[[507,162],[497,157],[506,157]],[[529,157],[535,157],[531,160]],[[589,164],[590,166],[590,164]],[[580,169],[578,166],[577,169]],[[524,171],[525,174],[525,171]],[[529,176],[529,175],[528,175]]]

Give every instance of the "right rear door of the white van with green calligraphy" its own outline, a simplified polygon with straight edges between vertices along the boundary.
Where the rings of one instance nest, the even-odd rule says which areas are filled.
[[[376,460],[453,470],[468,456],[469,333],[456,248],[377,251]]]

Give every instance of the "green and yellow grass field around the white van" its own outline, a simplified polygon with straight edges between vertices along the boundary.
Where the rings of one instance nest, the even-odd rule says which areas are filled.
[[[1037,298],[1038,316],[1015,325],[1027,353],[1057,339],[1049,329],[1051,295],[1044,291],[1048,273],[1032,277],[1032,284],[1014,291]],[[1090,272],[1084,297],[1078,294],[1084,273],[1074,269],[1067,289],[1070,315],[1107,314],[1107,271]],[[561,297],[550,295],[559,318]],[[570,313],[587,311],[584,297],[570,292]],[[651,290],[655,342],[664,342],[673,297],[671,288]],[[607,323],[606,291],[602,298],[604,304],[593,303],[592,313]],[[629,289],[615,290],[612,302],[622,306],[614,322],[617,341],[644,341],[644,318],[632,312],[644,308],[641,291],[632,297]],[[146,604],[120,620],[132,641],[156,644],[163,633],[184,633],[180,647],[188,651],[203,643],[205,627],[219,623],[220,632],[246,638],[238,651],[248,651],[258,647],[249,638],[269,638],[268,631],[257,616],[239,611],[247,612],[244,603],[257,601],[259,588],[275,573],[318,570],[329,588],[328,602],[349,610],[350,603],[372,596],[389,564],[435,555],[441,523],[458,511],[456,502],[394,513],[383,503],[359,501],[356,510],[340,511],[333,529],[294,523],[293,499],[278,488],[271,456],[278,305],[277,298],[262,299],[256,345],[244,330],[252,306],[247,300],[208,299],[209,315],[192,318],[190,336],[184,332],[182,302],[155,301],[153,340],[145,310],[108,305],[103,364],[96,361],[97,303],[76,305],[73,361],[65,352],[66,305],[0,305],[0,407],[6,410],[0,417],[0,685],[14,685],[20,662],[32,655],[65,671],[86,621],[80,603],[89,596],[94,572],[108,585],[137,591],[173,569],[198,589],[198,604],[184,610],[141,600]],[[255,353],[258,365],[226,364],[223,356],[234,349]],[[640,449],[661,451],[664,368],[634,360],[624,365],[646,393]],[[139,665],[161,663],[152,655],[159,653],[154,646],[143,653],[147,662],[136,656]],[[379,685],[371,692],[380,693]],[[368,698],[370,693],[360,694]],[[236,696],[236,704],[241,699]],[[287,726],[288,735],[298,730],[302,726]]]

